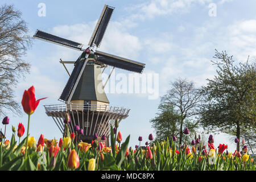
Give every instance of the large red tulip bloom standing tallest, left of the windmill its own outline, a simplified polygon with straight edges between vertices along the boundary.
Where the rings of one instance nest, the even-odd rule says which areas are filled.
[[[31,86],[28,90],[25,90],[22,97],[22,106],[25,113],[28,115],[33,114],[40,100],[43,100],[47,97],[40,98],[39,100],[35,99],[35,88]]]

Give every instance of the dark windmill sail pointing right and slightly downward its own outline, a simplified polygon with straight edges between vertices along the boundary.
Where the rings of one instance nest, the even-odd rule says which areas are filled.
[[[126,69],[132,72],[142,73],[145,67],[144,63],[139,63],[137,61],[129,60],[123,57],[110,55],[109,53],[102,51],[96,51],[94,52],[94,55],[98,56],[97,61],[100,61],[101,63],[121,69]]]

